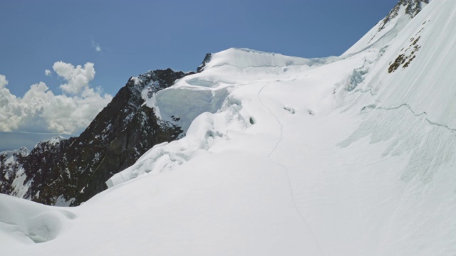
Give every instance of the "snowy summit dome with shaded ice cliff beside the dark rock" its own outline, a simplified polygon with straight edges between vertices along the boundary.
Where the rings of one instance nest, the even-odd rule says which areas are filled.
[[[251,80],[293,80],[300,73],[333,58],[305,59],[257,50],[230,48],[212,55],[204,72],[182,78],[170,88],[160,90],[147,100],[159,117],[182,127],[187,133],[192,121],[204,112],[217,112],[229,90]],[[285,71],[284,71],[285,69]],[[174,118],[179,118],[175,122]]]

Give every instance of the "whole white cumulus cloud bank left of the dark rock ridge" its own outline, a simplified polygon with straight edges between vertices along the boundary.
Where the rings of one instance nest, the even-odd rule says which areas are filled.
[[[54,71],[65,80],[63,94],[56,95],[44,82],[31,85],[23,97],[11,94],[0,75],[0,132],[52,132],[73,134],[92,122],[112,96],[90,87],[93,63],[76,68],[61,61]]]

